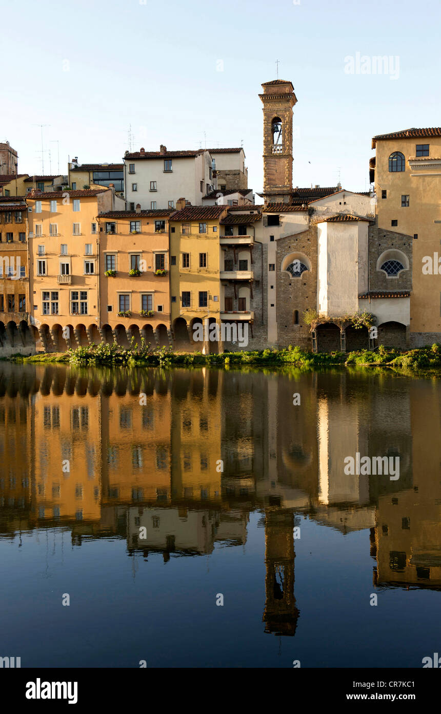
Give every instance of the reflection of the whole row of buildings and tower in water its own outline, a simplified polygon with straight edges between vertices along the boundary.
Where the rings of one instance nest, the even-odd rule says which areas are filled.
[[[1,537],[111,535],[167,563],[244,546],[260,511],[264,629],[294,635],[296,514],[369,529],[374,585],[441,588],[440,416],[439,383],[390,375],[3,363]],[[399,456],[399,481],[346,476],[357,452]]]

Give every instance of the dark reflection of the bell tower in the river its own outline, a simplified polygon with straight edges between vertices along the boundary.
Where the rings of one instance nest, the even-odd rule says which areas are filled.
[[[294,513],[265,513],[265,632],[295,635],[299,609],[294,598]]]

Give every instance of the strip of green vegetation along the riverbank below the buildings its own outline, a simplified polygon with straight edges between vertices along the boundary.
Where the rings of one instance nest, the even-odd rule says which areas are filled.
[[[293,365],[296,367],[314,369],[336,365],[380,366],[398,371],[439,371],[441,369],[441,345],[433,344],[407,352],[387,349],[380,345],[375,351],[362,350],[358,352],[320,352],[312,353],[291,347],[281,350],[266,349],[249,352],[224,352],[222,354],[175,353],[170,348],[142,344],[140,348],[133,343],[125,348],[115,344],[100,343],[98,346],[78,347],[66,353],[39,354],[32,357],[14,356],[16,362],[62,362],[78,366],[83,365],[133,365],[133,366],[166,366],[166,365]]]

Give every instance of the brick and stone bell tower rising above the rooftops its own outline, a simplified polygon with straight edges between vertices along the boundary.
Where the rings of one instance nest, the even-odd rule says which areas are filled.
[[[265,202],[289,203],[293,182],[293,106],[297,98],[290,81],[274,79],[262,84],[264,94]]]

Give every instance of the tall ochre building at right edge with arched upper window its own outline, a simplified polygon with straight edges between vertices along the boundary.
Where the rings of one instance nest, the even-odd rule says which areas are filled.
[[[378,227],[414,238],[410,345],[441,341],[441,127],[374,136],[372,147]]]

